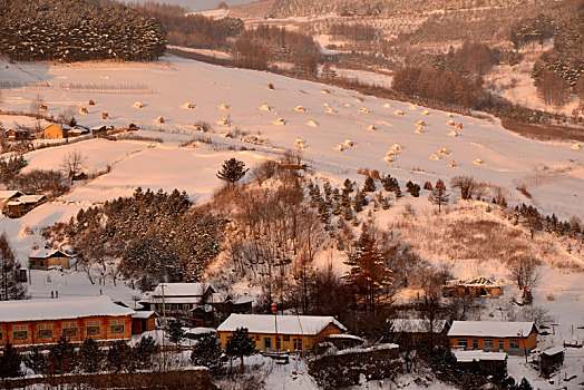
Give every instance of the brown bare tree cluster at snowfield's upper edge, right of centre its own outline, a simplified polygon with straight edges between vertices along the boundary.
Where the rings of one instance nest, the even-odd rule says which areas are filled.
[[[479,82],[450,71],[406,66],[396,71],[391,88],[410,98],[456,105],[461,108],[475,107],[484,96]]]

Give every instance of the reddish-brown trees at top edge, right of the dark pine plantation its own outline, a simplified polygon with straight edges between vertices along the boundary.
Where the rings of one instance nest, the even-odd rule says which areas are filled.
[[[243,21],[234,18],[213,19],[189,13],[176,4],[146,1],[132,6],[140,14],[155,18],[168,33],[168,43],[193,48],[223,49],[227,38],[243,31]]]

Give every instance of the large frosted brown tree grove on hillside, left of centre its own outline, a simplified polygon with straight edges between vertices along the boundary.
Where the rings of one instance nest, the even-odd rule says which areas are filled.
[[[115,282],[119,272],[191,282],[220,252],[223,226],[222,218],[192,207],[184,192],[138,188],[132,197],[80,209],[52,232],[79,254],[91,282],[107,276]]]

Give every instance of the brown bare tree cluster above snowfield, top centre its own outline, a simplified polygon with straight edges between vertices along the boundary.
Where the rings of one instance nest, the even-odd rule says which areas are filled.
[[[289,61],[296,75],[306,77],[317,75],[320,58],[319,45],[311,36],[267,25],[243,31],[232,53],[235,66],[267,69],[274,61]]]

